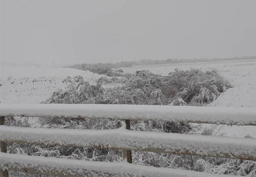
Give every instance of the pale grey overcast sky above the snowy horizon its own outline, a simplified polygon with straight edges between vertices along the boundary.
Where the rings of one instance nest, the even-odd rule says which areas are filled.
[[[1,0],[1,61],[256,55],[255,7],[255,0]]]

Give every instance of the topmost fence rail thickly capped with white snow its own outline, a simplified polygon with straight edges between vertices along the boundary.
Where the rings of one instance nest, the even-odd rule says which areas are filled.
[[[0,104],[1,116],[65,116],[256,125],[256,109],[119,104]]]

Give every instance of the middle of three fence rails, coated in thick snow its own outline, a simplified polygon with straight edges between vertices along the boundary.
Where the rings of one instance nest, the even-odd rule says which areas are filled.
[[[112,130],[43,129],[0,126],[0,140],[38,145],[68,145],[157,151],[256,160],[256,139]]]

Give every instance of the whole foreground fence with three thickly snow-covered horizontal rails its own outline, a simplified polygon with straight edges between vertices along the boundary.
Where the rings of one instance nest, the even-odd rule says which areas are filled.
[[[6,169],[62,176],[86,176],[88,174],[101,176],[106,176],[106,174],[113,174],[113,176],[132,176],[133,174],[139,176],[159,175],[159,169],[156,170],[157,173],[154,173],[151,168],[124,163],[94,163],[8,154],[5,153],[5,142],[123,149],[126,153],[131,150],[155,151],[256,161],[255,139],[127,130],[129,129],[129,120],[174,120],[225,125],[256,125],[256,110],[253,108],[100,104],[0,104],[0,106],[0,142],[2,152],[0,153],[0,168],[5,170],[0,170],[0,176],[7,176]],[[127,129],[124,126],[119,129],[101,131],[7,127],[3,125],[5,116],[114,118],[125,120]],[[126,155],[129,156],[129,154]],[[47,164],[46,161],[52,164]],[[67,166],[69,163],[71,163],[71,166]],[[52,168],[51,165],[53,166]],[[58,168],[55,168],[55,166]],[[114,172],[113,170],[108,170],[108,167],[117,167],[117,170],[114,170]],[[102,168],[104,170],[100,170]],[[139,168],[143,170],[131,170]],[[170,176],[170,174],[173,176],[192,175],[191,172],[187,174],[184,170],[170,169],[163,170],[161,174],[161,176]],[[200,175],[195,172],[195,176]],[[203,174],[203,176],[206,175]]]

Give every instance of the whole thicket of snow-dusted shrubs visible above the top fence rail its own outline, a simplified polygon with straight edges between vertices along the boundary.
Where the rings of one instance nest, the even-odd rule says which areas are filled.
[[[90,85],[82,76],[68,77],[65,90],[53,93],[44,103],[203,105],[212,102],[231,85],[216,71],[174,71],[168,76],[137,71],[125,77],[101,77]],[[102,84],[122,83],[103,88]],[[225,89],[224,89],[225,88]]]

